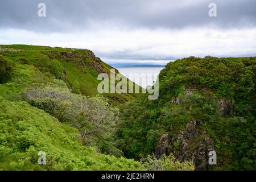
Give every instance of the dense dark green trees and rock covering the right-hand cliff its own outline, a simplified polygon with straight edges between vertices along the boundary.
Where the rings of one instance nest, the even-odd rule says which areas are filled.
[[[145,96],[121,107],[119,148],[128,158],[172,152],[197,169],[255,170],[255,73],[256,57],[168,63],[158,100]],[[216,166],[207,164],[210,150],[217,152]]]

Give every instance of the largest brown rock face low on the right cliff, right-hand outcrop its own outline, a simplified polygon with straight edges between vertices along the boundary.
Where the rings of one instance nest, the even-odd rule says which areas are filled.
[[[214,150],[213,139],[203,137],[204,135],[199,122],[191,121],[178,137],[182,151],[181,160],[192,160],[198,170],[207,169],[208,153]],[[174,152],[174,155],[177,154]]]

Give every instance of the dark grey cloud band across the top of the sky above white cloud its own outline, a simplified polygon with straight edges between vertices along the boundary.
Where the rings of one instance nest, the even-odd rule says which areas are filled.
[[[46,18],[37,15],[37,6],[40,2],[47,5]],[[205,0],[189,5],[179,5],[179,2],[179,0],[2,0],[0,28],[62,32],[85,31],[94,23],[102,26],[115,24],[132,29],[202,27],[209,24],[220,28],[256,25],[254,0]],[[208,16],[210,2],[217,4],[215,18]]]

